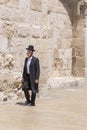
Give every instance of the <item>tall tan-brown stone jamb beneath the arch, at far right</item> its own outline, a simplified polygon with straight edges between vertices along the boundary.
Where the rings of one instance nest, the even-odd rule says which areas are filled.
[[[72,70],[74,76],[85,76],[85,14],[81,10],[85,2],[73,4]],[[78,7],[78,8],[75,8]],[[83,6],[84,7],[84,6]],[[77,9],[77,10],[76,10]]]

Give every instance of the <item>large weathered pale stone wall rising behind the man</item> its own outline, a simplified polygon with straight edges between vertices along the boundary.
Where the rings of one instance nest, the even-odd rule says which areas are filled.
[[[40,84],[54,77],[84,76],[84,18],[73,20],[74,2],[78,1],[0,0],[1,90],[20,82],[29,44],[40,59]]]

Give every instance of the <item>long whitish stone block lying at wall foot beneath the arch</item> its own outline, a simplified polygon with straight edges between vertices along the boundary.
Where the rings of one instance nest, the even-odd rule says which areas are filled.
[[[85,78],[75,77],[56,77],[49,78],[47,81],[48,88],[77,88],[85,86]]]

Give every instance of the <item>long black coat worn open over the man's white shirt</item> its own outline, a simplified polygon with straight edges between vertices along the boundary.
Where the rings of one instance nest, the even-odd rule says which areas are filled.
[[[28,58],[25,58],[24,63],[24,69],[23,69],[23,79],[26,81],[27,76],[27,60]],[[33,93],[37,93],[39,91],[38,84],[35,83],[35,80],[39,80],[40,76],[40,65],[39,65],[39,59],[36,57],[32,57],[31,63],[30,63],[30,82],[31,82],[31,88]]]

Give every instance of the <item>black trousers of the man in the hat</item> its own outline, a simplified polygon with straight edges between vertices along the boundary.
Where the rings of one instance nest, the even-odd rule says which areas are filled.
[[[29,101],[29,102],[31,101],[31,104],[35,104],[36,94],[34,94],[32,92],[31,83],[30,83],[30,75],[29,74],[27,74],[26,80],[28,81],[29,89],[24,90],[25,98],[26,98],[27,101]],[[31,96],[30,96],[29,90],[31,90]]]

